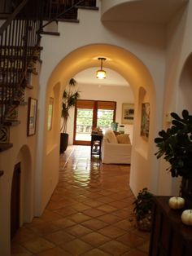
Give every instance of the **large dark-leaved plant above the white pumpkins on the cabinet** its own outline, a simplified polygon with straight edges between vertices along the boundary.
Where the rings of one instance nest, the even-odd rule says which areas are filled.
[[[164,157],[170,163],[172,177],[192,178],[192,116],[187,110],[182,111],[182,117],[171,113],[172,126],[168,130],[159,131],[155,138],[159,151],[157,158]]]

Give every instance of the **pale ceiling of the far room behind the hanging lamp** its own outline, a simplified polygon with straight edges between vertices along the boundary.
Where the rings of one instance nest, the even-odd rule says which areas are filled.
[[[78,84],[93,84],[93,85],[101,85],[101,86],[129,86],[129,83],[124,79],[124,77],[120,76],[119,73],[110,69],[103,68],[107,77],[105,79],[96,78],[96,71],[98,67],[95,68],[87,68],[80,73],[77,73],[74,78]]]

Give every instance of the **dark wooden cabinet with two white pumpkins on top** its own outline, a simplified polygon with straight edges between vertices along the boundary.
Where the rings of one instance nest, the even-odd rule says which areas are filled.
[[[191,256],[192,227],[181,222],[184,210],[172,210],[170,196],[155,196],[150,256]]]

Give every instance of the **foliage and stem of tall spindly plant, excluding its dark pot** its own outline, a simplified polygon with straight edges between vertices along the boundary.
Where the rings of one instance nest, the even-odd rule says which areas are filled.
[[[63,91],[63,99],[62,99],[62,112],[61,117],[63,117],[63,124],[61,126],[61,131],[67,131],[67,123],[69,117],[69,109],[76,105],[76,100],[80,98],[80,91],[74,90],[76,86],[76,80],[71,78],[69,80],[68,86],[66,90]]]

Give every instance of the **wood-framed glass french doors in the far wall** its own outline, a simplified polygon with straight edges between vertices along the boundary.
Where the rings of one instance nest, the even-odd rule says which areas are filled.
[[[76,101],[73,143],[90,145],[91,131],[100,127],[103,131],[116,120],[116,102],[85,100]]]

